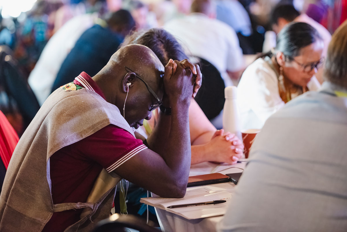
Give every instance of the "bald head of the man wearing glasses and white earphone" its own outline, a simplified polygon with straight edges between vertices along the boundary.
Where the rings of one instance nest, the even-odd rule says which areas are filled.
[[[129,125],[138,127],[143,119],[150,119],[150,109],[163,97],[163,75],[164,66],[151,49],[130,44],[114,53],[93,80]]]

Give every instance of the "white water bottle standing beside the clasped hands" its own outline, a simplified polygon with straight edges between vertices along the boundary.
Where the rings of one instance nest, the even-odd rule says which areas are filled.
[[[224,90],[223,129],[235,134],[242,141],[240,111],[237,105],[237,88],[228,86]]]

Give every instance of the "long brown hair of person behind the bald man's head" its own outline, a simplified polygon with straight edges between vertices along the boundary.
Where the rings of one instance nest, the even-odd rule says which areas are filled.
[[[149,47],[164,66],[170,58],[173,60],[188,58],[175,37],[162,28],[152,28],[145,32],[135,32],[125,38],[120,47],[128,44],[141,44]]]

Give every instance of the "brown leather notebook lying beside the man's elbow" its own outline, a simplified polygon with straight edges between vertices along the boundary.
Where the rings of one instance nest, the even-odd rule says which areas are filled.
[[[218,184],[229,181],[229,176],[223,175],[221,173],[212,173],[198,176],[189,176],[187,187],[208,185],[208,184]]]

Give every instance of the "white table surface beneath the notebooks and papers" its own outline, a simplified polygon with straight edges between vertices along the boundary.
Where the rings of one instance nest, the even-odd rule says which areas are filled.
[[[242,172],[246,162],[237,163],[235,165],[213,164],[204,162],[191,166],[189,176],[210,174],[210,173],[239,173]],[[231,194],[234,192],[235,184],[231,182],[212,184],[212,186],[224,188]],[[196,187],[191,187],[196,188]],[[188,188],[190,189],[190,188]],[[155,196],[154,194],[152,194]],[[216,224],[222,219],[223,216],[207,217],[201,219],[189,220],[177,214],[167,212],[163,209],[155,208],[158,221],[162,231],[165,232],[214,232]]]

